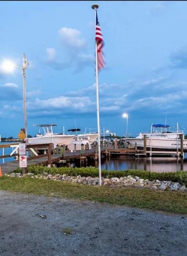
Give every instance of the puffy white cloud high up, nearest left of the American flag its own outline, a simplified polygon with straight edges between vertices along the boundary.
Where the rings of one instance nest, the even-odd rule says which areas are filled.
[[[85,40],[80,38],[81,31],[75,28],[61,27],[58,33],[67,46],[81,48],[86,44]]]

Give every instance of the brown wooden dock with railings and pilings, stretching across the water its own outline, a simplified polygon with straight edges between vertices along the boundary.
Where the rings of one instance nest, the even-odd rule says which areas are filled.
[[[182,140],[182,139],[181,139]],[[15,147],[18,144],[14,144]],[[0,145],[0,148],[8,148],[12,147],[13,144],[4,144]],[[81,150],[75,151],[66,151],[66,146],[61,146],[59,148],[53,149],[53,144],[27,144],[27,151],[29,151],[30,157],[27,157],[27,165],[44,165],[44,166],[51,166],[57,164],[64,164],[66,162],[70,162],[73,159],[80,159],[81,164],[83,161],[86,161],[89,157],[93,157],[95,161],[98,160],[98,148],[92,149],[84,149],[84,145],[82,144]],[[144,149],[137,149],[137,145],[135,144],[135,148],[121,148],[121,144],[117,144],[117,139],[109,146],[108,144],[103,145],[101,148],[101,154],[105,157],[110,158],[112,155],[134,155],[135,158],[138,157],[147,157],[147,156],[168,156],[168,155],[175,155],[177,158],[181,156],[183,157],[183,148],[180,151],[150,151],[146,147],[146,138],[144,136]],[[19,158],[19,149],[12,149],[12,153],[9,155],[2,155],[2,158],[10,158],[10,157]],[[19,160],[14,160],[10,162],[6,162],[1,164],[2,174],[13,172],[15,169],[19,167]]]

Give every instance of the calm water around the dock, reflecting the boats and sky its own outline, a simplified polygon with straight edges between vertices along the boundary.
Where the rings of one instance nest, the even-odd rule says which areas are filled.
[[[10,144],[10,142],[0,142],[0,144]],[[12,142],[15,143],[15,142]],[[10,154],[11,148],[5,148],[4,154]],[[2,155],[2,149],[0,149],[0,155]],[[89,158],[88,158],[89,159]],[[5,162],[12,161],[14,158],[5,158]],[[3,160],[0,159],[0,164]],[[96,162],[97,163],[97,162]],[[76,160],[71,163],[71,167],[80,167],[80,160]],[[96,166],[95,161],[88,160],[88,166]],[[176,172],[180,170],[187,171],[187,153],[185,153],[184,159],[177,159],[176,157],[152,157],[152,158],[135,158],[133,155],[121,155],[114,156],[107,160],[102,159],[101,168],[105,170],[126,170],[126,169],[142,169],[152,172]]]

